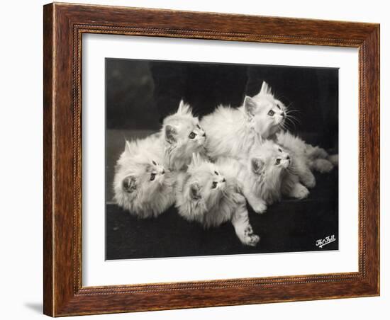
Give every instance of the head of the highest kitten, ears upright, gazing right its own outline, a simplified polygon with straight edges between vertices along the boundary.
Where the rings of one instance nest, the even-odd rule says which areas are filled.
[[[264,139],[274,135],[284,125],[286,106],[274,98],[267,83],[263,82],[260,93],[245,97],[244,109],[257,133]]]

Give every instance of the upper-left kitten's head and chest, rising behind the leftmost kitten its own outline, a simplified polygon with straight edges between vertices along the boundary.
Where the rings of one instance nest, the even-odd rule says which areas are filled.
[[[186,170],[194,152],[206,154],[206,133],[199,125],[199,119],[192,115],[190,106],[183,101],[180,101],[177,113],[164,119],[160,137],[164,163],[171,170]]]

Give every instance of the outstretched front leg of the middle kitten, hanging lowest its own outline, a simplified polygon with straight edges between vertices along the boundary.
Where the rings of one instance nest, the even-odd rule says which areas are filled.
[[[245,201],[238,204],[233,213],[232,224],[238,239],[247,246],[256,246],[260,241],[260,236],[253,233],[252,226],[249,222],[247,206]]]

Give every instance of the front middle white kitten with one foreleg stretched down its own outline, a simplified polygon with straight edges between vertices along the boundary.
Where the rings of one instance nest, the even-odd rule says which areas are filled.
[[[178,174],[176,207],[182,217],[206,228],[230,221],[238,239],[248,246],[260,240],[253,234],[238,181],[229,170],[220,170],[199,154],[194,154],[187,172]]]

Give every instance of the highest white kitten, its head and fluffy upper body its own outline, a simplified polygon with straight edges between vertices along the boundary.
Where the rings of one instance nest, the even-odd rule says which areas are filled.
[[[208,156],[246,158],[255,144],[279,131],[286,116],[286,106],[274,98],[268,84],[263,82],[260,92],[252,98],[246,96],[240,108],[219,105],[201,119],[208,135]]]

